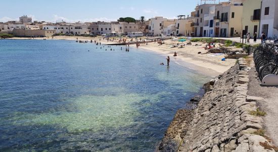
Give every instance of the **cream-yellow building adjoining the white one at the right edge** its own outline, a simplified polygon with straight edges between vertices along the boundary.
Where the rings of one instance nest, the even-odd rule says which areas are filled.
[[[253,37],[257,32],[259,37],[259,26],[261,17],[261,0],[245,0],[243,2],[242,29],[250,32]]]

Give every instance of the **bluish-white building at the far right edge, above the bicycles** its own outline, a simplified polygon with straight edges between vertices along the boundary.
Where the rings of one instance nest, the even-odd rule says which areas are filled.
[[[262,0],[260,34],[264,32],[267,37],[278,35],[278,1]],[[260,35],[261,36],[261,35]]]

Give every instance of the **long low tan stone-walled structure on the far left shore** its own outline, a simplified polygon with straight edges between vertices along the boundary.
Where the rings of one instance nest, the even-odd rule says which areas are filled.
[[[19,37],[47,37],[47,36],[52,36],[55,34],[55,30],[42,30],[42,29],[14,29],[13,34],[14,36],[19,36]]]

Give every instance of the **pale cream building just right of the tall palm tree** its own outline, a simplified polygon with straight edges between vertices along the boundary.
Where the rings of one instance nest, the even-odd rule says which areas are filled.
[[[149,21],[149,36],[159,36],[162,34],[162,22],[166,21],[166,18],[163,17],[155,17],[151,18]]]

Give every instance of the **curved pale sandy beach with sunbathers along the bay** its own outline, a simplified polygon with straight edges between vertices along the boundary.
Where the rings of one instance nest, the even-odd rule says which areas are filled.
[[[101,42],[102,44],[115,44],[117,41],[109,41],[101,39],[100,36],[98,37],[84,37],[84,36],[54,36],[46,38],[47,40],[74,40],[76,41],[97,41]],[[14,40],[23,40],[23,39],[29,39],[28,37],[13,37],[11,39]],[[34,38],[36,40],[43,40],[45,37],[36,37]],[[130,41],[130,38],[127,38],[127,41]],[[227,69],[229,69],[231,66],[235,65],[236,59],[226,59],[225,61],[221,61],[222,58],[224,58],[224,54],[213,54],[213,53],[207,53],[207,50],[204,49],[206,44],[197,42],[192,43],[192,45],[186,45],[183,48],[171,48],[172,45],[176,45],[177,43],[181,44],[181,42],[177,41],[171,41],[166,40],[164,41],[165,44],[159,45],[158,43],[152,42],[148,44],[140,44],[141,49],[149,50],[156,52],[161,55],[165,55],[165,58],[167,56],[170,56],[170,64],[171,62],[175,62],[176,64],[179,64],[184,67],[192,68],[197,70],[200,73],[215,77],[218,74],[223,73]],[[186,42],[184,42],[186,44]],[[198,44],[199,46],[195,46]],[[218,46],[218,44],[216,44]],[[136,47],[134,45],[130,45],[130,47]],[[139,49],[140,50],[140,49]],[[174,57],[174,52],[177,53],[177,56]],[[198,52],[201,52],[201,54],[198,54]],[[166,63],[166,59],[164,61]]]

